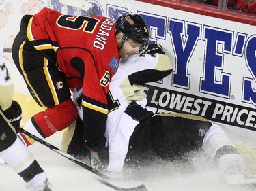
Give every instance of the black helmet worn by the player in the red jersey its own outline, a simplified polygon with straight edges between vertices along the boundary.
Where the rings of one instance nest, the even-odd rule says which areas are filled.
[[[143,44],[147,44],[149,39],[149,31],[147,29],[147,24],[138,14],[126,14],[120,16],[115,22],[115,34],[122,31],[124,37],[122,41],[127,39],[132,39],[133,41]]]

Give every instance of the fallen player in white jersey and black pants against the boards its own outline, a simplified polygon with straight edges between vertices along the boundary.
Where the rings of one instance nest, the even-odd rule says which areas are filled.
[[[160,54],[153,57],[152,55],[133,57],[121,63],[111,80],[109,92],[111,99],[109,99],[105,133],[109,147],[107,170],[122,172],[125,159],[134,156],[137,156],[137,161],[142,160],[143,163],[145,160],[142,158],[143,153],[144,156],[150,156],[148,151],[153,151],[161,158],[172,160],[190,150],[202,150],[209,158],[216,161],[221,175],[228,183],[244,183],[245,176],[248,175],[246,165],[220,126],[205,118],[188,114],[153,116],[156,111],[146,107],[147,99],[141,94],[141,88],[146,82],[154,82],[154,80],[150,81],[151,77],[154,79],[154,76],[160,74],[156,72],[155,75],[146,75],[151,69],[167,71],[168,65],[159,67],[160,63],[169,63],[168,59],[161,57]],[[154,60],[160,62],[154,65]],[[74,92],[74,97],[75,103],[79,103],[79,91]],[[79,139],[79,125],[76,125],[72,133],[74,131],[74,137],[70,139],[71,147],[69,145],[68,148],[70,154],[79,145],[74,143]],[[65,136],[70,135],[67,133]],[[127,156],[129,145],[132,152]],[[247,182],[254,181],[254,177],[250,178]]]

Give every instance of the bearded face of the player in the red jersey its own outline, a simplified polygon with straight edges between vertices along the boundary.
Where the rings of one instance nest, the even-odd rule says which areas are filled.
[[[130,56],[134,54],[139,54],[139,50],[143,44],[139,44],[132,39],[127,39],[122,43],[123,34],[117,35],[117,46],[119,48],[119,57],[123,60],[128,60]]]

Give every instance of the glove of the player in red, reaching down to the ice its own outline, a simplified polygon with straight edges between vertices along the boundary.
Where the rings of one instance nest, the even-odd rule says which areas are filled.
[[[98,156],[98,144],[85,141],[85,146],[89,150],[88,156],[91,163],[91,168],[96,169],[98,171],[102,170],[103,165],[100,162],[100,158]]]

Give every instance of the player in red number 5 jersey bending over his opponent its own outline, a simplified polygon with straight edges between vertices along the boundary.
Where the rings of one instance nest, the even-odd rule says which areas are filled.
[[[139,15],[120,16],[116,23],[106,17],[63,15],[48,8],[25,15],[12,56],[29,92],[38,105],[46,107],[25,129],[45,138],[72,124],[77,112],[70,88],[83,87],[83,139],[93,152],[104,136],[106,94],[119,58],[139,54],[148,39]]]

